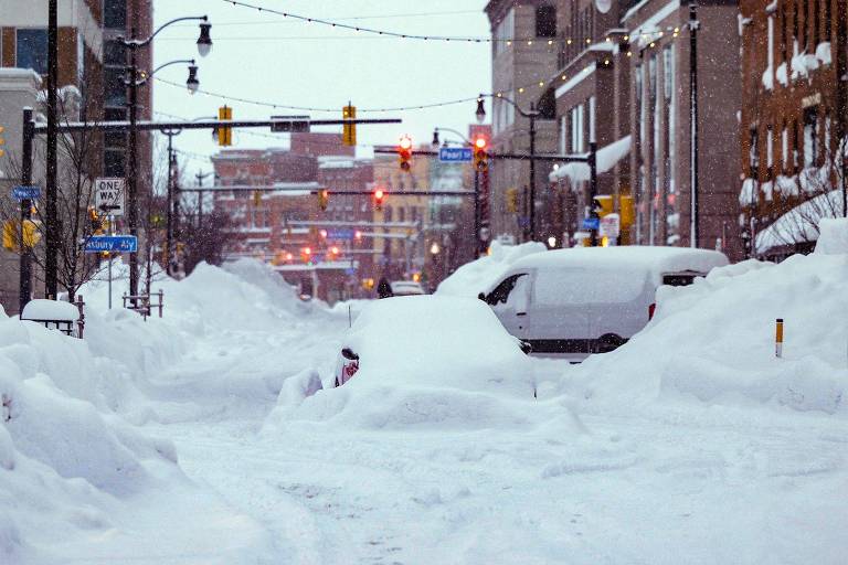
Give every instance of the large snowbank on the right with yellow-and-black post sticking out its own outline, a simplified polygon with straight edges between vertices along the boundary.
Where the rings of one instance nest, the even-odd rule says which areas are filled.
[[[825,225],[822,247],[845,249],[848,225]],[[835,312],[848,311],[847,277],[845,254],[817,252],[780,265],[749,260],[689,287],[661,287],[648,327],[568,371],[564,390],[602,404],[685,397],[848,414],[848,331],[844,320],[833,323]],[[782,359],[777,318],[785,321]]]

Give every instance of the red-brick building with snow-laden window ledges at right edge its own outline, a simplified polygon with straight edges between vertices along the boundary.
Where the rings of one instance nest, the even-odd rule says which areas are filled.
[[[818,220],[842,215],[848,9],[845,0],[743,0],[740,8],[746,252],[781,258],[812,250]]]

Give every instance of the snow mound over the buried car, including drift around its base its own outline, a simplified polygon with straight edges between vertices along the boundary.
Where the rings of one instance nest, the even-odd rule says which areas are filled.
[[[368,429],[515,429],[527,426],[540,409],[532,404],[529,358],[476,299],[415,296],[375,301],[342,344],[360,356],[353,377],[309,395],[314,376],[303,374],[296,390],[280,395],[268,424],[327,420]],[[332,377],[325,384],[332,386]],[[293,394],[297,391],[300,394]]]

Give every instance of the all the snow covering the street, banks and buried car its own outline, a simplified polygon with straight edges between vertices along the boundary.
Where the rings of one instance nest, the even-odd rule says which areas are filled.
[[[86,285],[85,340],[0,312],[0,562],[840,563],[846,230],[661,288],[573,366],[471,298],[581,252],[539,244],[462,267],[458,297],[356,302],[351,329],[253,260],[157,277],[162,319]],[[332,388],[342,345],[362,363]]]

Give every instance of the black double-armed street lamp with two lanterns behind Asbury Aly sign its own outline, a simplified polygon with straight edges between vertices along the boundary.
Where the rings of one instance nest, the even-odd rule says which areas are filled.
[[[138,131],[137,131],[137,122],[138,122],[138,87],[147,83],[147,78],[149,76],[152,76],[156,74],[157,71],[160,68],[163,68],[170,64],[178,63],[177,61],[172,61],[171,63],[167,63],[165,65],[161,65],[156,71],[150,73],[149,76],[142,76],[139,78],[139,72],[138,72],[138,50],[141,47],[146,47],[150,45],[150,42],[153,41],[153,38],[156,38],[163,29],[168,28],[169,25],[177,23],[177,22],[184,22],[184,21],[200,21],[200,36],[198,38],[198,53],[200,56],[206,56],[209,55],[210,51],[212,50],[212,39],[210,38],[210,30],[212,25],[209,23],[209,19],[205,15],[199,15],[199,17],[186,17],[186,18],[177,18],[174,20],[171,20],[161,26],[157,29],[149,38],[139,40],[136,38],[136,30],[135,28],[131,30],[131,38],[118,38],[118,41],[130,51],[130,64],[127,67],[127,78],[125,79],[125,83],[129,87],[129,166],[127,167],[127,192],[128,192],[128,199],[127,204],[129,207],[127,220],[129,223],[129,233],[130,235],[138,235],[138,162],[137,162],[137,152],[138,152]],[[181,61],[186,62],[186,61]],[[189,92],[191,94],[194,94],[200,85],[198,82],[198,67],[194,66],[194,62],[191,61],[191,65],[189,66],[189,78],[186,82],[186,86],[189,88]],[[135,253],[131,253],[129,255],[129,294],[130,296],[137,296],[138,295],[138,257]]]

